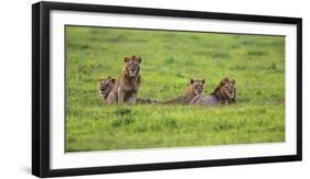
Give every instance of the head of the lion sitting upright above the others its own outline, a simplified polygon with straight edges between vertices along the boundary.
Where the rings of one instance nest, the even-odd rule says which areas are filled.
[[[129,77],[136,77],[140,72],[140,65],[141,65],[141,58],[136,57],[132,55],[131,57],[125,57],[125,69],[126,72],[129,75]]]

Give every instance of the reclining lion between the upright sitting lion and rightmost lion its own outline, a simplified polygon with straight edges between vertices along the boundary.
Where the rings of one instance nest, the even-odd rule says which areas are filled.
[[[161,102],[161,104],[190,104],[196,96],[203,96],[204,79],[190,79],[185,94]]]

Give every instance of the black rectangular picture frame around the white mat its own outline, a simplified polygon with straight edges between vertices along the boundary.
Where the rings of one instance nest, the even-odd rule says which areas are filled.
[[[177,16],[246,22],[266,22],[297,25],[297,155],[143,164],[92,168],[50,168],[50,12],[105,12],[136,15]],[[297,161],[302,159],[302,20],[299,18],[245,15],[232,13],[196,12],[167,9],[113,7],[97,4],[38,2],[32,5],[32,174],[38,177],[61,177],[110,172],[146,171],[260,163]]]

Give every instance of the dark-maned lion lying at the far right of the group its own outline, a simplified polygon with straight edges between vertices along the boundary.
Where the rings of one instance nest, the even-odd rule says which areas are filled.
[[[209,96],[196,96],[192,99],[192,105],[217,105],[217,104],[232,104],[236,102],[236,81],[224,78],[221,80],[215,90]]]

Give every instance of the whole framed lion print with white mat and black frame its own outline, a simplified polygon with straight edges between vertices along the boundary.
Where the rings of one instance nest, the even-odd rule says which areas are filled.
[[[301,160],[301,19],[32,5],[32,174]]]

